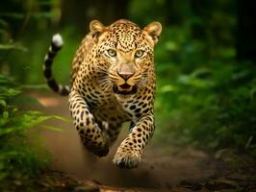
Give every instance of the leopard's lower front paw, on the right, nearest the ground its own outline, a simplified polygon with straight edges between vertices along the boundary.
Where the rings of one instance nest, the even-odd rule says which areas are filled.
[[[132,150],[117,150],[113,162],[119,168],[136,168],[141,161],[141,153]]]

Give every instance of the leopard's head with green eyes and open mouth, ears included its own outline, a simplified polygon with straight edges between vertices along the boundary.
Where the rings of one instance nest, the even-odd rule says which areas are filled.
[[[108,27],[93,20],[90,32],[96,47],[95,58],[104,71],[100,84],[125,95],[150,84],[154,75],[154,46],[162,32],[159,22],[152,22],[141,30],[125,19]]]

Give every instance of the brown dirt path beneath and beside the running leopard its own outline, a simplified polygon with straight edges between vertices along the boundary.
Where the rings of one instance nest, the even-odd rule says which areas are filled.
[[[169,146],[154,139],[145,148],[138,168],[119,169],[112,159],[128,132],[127,125],[124,125],[110,154],[98,158],[81,145],[71,123],[66,97],[49,93],[46,96],[32,95],[43,106],[37,109],[70,119],[69,123],[59,120],[47,122],[61,127],[62,132],[39,131],[52,155],[49,175],[56,179],[58,191],[256,191],[253,161],[248,161],[250,166],[247,168],[239,166],[234,169],[229,163],[231,161],[219,156],[190,146]]]

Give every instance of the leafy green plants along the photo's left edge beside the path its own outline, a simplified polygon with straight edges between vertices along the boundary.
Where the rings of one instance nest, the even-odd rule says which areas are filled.
[[[38,178],[49,167],[49,154],[38,140],[28,137],[28,130],[50,118],[60,119],[24,109],[38,103],[23,94],[23,90],[45,88],[46,85],[22,84],[29,83],[31,77],[36,76],[38,79],[37,73],[34,73],[35,76],[28,75],[31,70],[28,65],[32,56],[31,47],[28,48],[22,38],[15,39],[24,30],[27,19],[32,16],[31,20],[34,20],[33,14],[30,14],[31,1],[22,3],[23,7],[16,8],[17,2],[10,1],[7,5],[15,7],[15,12],[8,12],[7,9],[0,14],[0,191],[19,191],[19,185],[29,188],[29,185],[33,185],[31,179]],[[38,15],[34,13],[35,16]],[[15,77],[15,81],[10,76]],[[60,131],[58,128],[45,128]]]

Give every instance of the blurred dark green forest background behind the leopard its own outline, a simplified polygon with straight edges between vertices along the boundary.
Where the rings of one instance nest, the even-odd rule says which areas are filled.
[[[256,156],[256,16],[248,0],[3,1],[0,72],[19,85],[45,84],[43,58],[51,36],[61,33],[64,48],[53,68],[68,84],[90,20],[109,25],[119,18],[141,28],[153,20],[163,25],[155,47],[154,140]]]

